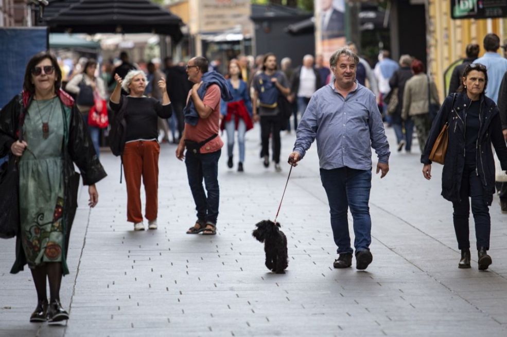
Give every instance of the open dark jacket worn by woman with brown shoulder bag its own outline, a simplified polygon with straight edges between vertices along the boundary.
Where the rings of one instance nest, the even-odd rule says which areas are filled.
[[[449,201],[460,201],[460,188],[465,166],[465,118],[470,99],[464,93],[447,96],[438,115],[433,120],[431,131],[421,156],[421,163],[431,164],[429,154],[442,127],[449,122],[449,144],[442,170],[442,196]],[[495,162],[491,144],[500,159],[502,170],[507,170],[507,146],[503,139],[498,108],[492,99],[481,95],[479,112],[479,137],[477,139],[477,168],[483,185],[484,201],[491,205],[495,193]]]

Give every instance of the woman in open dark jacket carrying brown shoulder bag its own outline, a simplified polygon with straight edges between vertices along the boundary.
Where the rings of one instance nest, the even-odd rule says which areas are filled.
[[[449,95],[433,121],[421,162],[424,178],[431,179],[429,155],[441,129],[448,123],[449,144],[442,170],[442,196],[452,202],[454,230],[461,250],[458,268],[470,268],[468,217],[474,215],[479,270],[492,263],[487,255],[491,218],[489,208],[495,192],[495,163],[491,145],[507,170],[507,147],[503,140],[495,102],[484,95],[486,67],[469,64],[456,97]]]

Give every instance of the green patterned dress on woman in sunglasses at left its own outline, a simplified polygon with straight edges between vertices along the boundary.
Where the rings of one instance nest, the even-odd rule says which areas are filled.
[[[63,123],[62,106],[55,97],[33,100],[23,125],[28,150],[20,160],[20,222],[30,268],[61,262],[65,249]]]

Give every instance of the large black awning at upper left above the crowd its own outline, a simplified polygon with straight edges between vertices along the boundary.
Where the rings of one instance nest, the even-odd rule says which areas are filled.
[[[176,43],[183,36],[180,17],[149,0],[54,1],[46,13],[44,22],[50,32],[155,33],[168,35]]]

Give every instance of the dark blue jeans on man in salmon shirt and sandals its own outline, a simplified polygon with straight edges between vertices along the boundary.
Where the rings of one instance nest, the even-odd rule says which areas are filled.
[[[212,153],[185,153],[188,184],[196,203],[197,219],[200,223],[217,225],[220,189],[218,186],[218,159],[222,150]],[[202,181],[206,185],[206,193]]]

